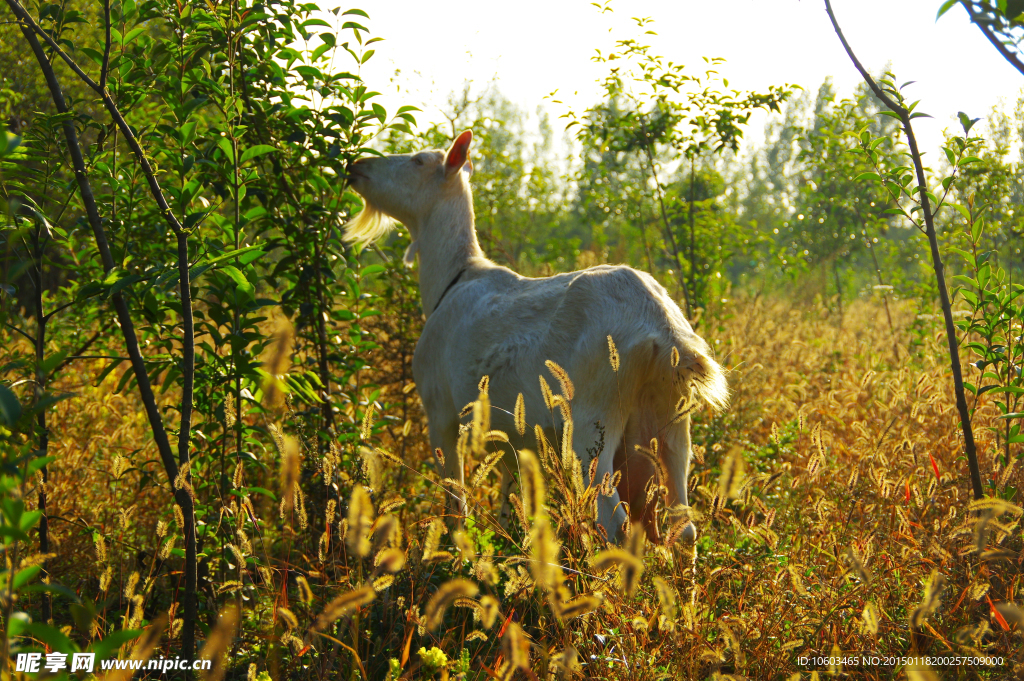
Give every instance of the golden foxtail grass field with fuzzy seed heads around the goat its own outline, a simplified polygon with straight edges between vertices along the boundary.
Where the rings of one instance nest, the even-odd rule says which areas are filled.
[[[237,498],[214,501],[205,520],[234,535],[231,553],[201,568],[201,609],[243,608],[228,678],[1024,679],[1021,610],[1002,605],[1024,600],[1020,492],[972,507],[945,339],[926,321],[908,354],[913,321],[897,310],[897,361],[873,302],[840,321],[820,303],[737,299],[706,320],[733,395],[727,413],[695,417],[696,544],[671,543],[680,511],[669,509],[669,544],[637,534],[609,549],[592,523],[600,490],[583,488],[557,442],[525,455],[508,531],[493,522],[497,471],[469,485],[466,531],[449,531],[403,379],[402,338],[415,334],[383,317],[378,369],[365,377],[392,406],[375,415],[377,453],[335,448],[324,460],[298,433],[278,434],[278,446],[268,437],[243,484],[291,503],[253,495],[246,512]],[[51,417],[48,565],[96,600],[110,631],[174,601],[181,566],[166,543],[181,536],[166,481],[144,464],[156,455],[142,410],[130,391],[113,393],[117,377],[91,385],[98,369],[67,379],[78,396]],[[982,397],[982,474],[1000,494],[1019,491],[1021,467],[994,457],[994,415]],[[467,433],[481,438],[467,443],[467,481],[486,456],[485,426]],[[142,470],[163,486],[140,485]],[[132,598],[142,608],[127,608]],[[61,610],[56,624],[71,631]],[[175,645],[165,638],[159,652]],[[814,655],[880,659],[799,664]],[[899,659],[912,655],[937,662]],[[998,659],[944,664],[955,655]]]

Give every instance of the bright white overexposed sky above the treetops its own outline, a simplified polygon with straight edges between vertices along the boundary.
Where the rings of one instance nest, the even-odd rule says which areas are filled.
[[[966,11],[956,6],[936,22],[939,0],[834,0],[847,40],[877,73],[892,65],[899,82],[913,80],[908,96],[921,99],[915,119],[922,150],[937,151],[942,129],[956,129],[956,112],[987,116],[1000,97],[1012,109],[1024,77],[1007,63]],[[384,38],[362,67],[366,82],[385,96],[388,111],[417,103],[421,121],[440,121],[453,90],[472,81],[475,91],[495,78],[501,92],[524,111],[544,105],[557,121],[566,105],[582,111],[599,98],[605,65],[591,57],[615,39],[638,37],[633,16],[654,19],[646,36],[653,50],[699,71],[703,56],[726,59],[720,73],[730,87],[766,90],[799,84],[815,91],[831,76],[840,95],[860,82],[833,31],[823,1],[612,0],[601,12],[588,0],[362,0],[369,29]],[[397,75],[396,75],[396,72]],[[554,103],[546,98],[558,90]],[[763,139],[765,116],[752,119],[749,143]],[[556,123],[556,131],[562,126]]]

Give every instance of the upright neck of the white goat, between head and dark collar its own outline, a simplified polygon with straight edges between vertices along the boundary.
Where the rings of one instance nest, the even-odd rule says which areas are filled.
[[[485,268],[487,260],[476,240],[473,197],[462,173],[417,228],[420,254],[420,297],[429,317],[459,272]],[[463,280],[466,274],[463,275]]]

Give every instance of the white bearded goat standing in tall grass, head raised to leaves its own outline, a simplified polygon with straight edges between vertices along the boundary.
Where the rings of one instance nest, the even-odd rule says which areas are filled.
[[[615,494],[598,497],[598,521],[609,538],[618,536],[627,517],[622,497],[631,519],[642,520],[648,536],[656,539],[654,504],[648,506],[645,494],[654,466],[635,446],[648,448],[657,438],[668,503],[687,504],[690,422],[677,409],[681,397],[688,405],[695,398],[724,409],[728,388],[722,369],[679,306],[645,272],[599,265],[529,279],[488,260],[474,226],[468,160],[472,136],[466,130],[446,153],[361,159],[349,169],[350,185],[364,198],[365,208],[346,226],[346,239],[373,242],[393,226],[392,219],[398,220],[412,237],[406,261],[412,264],[417,252],[420,256],[426,324],[413,356],[413,375],[426,408],[430,444],[444,454],[443,474],[465,480],[456,454],[459,413],[476,398],[483,376],[490,377],[493,427],[508,433],[512,446],[534,445],[528,430],[529,441],[518,437],[514,427],[519,393],[530,422],[540,423],[549,437],[560,429],[538,380],[547,372],[545,360],[551,359],[575,386],[572,449],[585,458],[585,478],[588,450],[593,453],[599,442],[597,481],[623,470]],[[609,364],[608,336],[621,357],[617,372]],[[589,479],[584,482],[590,484]],[[692,541],[695,533],[690,524],[683,538]]]

